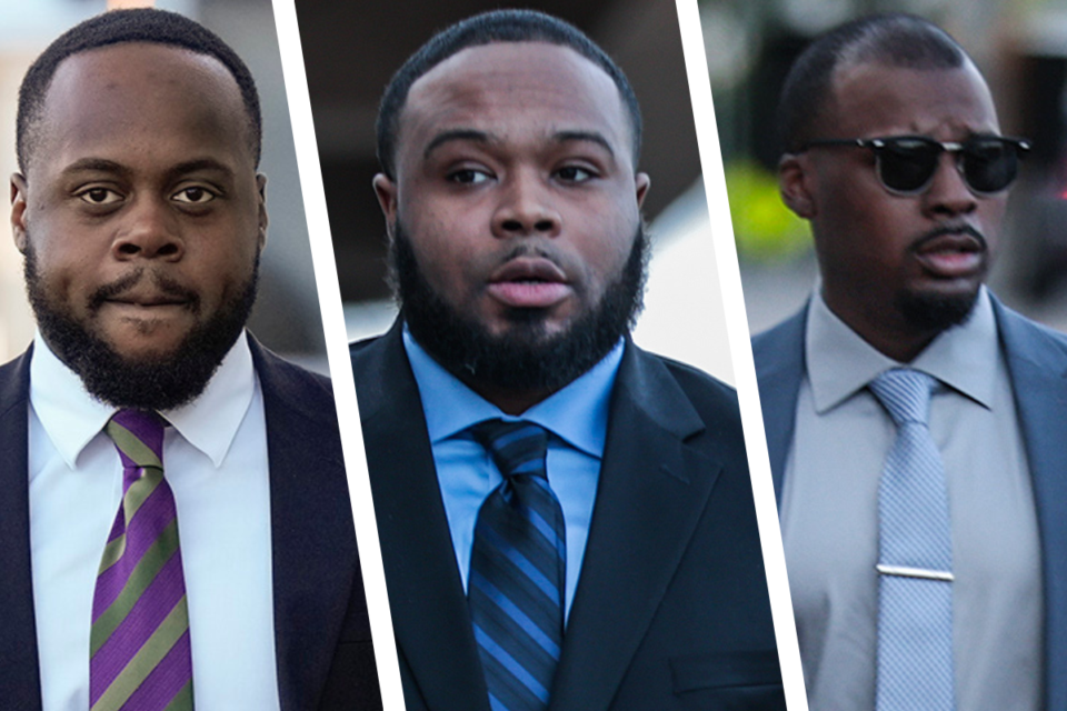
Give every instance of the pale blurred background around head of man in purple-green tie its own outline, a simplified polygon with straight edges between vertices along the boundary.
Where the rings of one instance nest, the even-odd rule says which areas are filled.
[[[260,171],[268,177],[270,227],[250,329],[270,349],[325,372],[322,320],[270,0],[0,0],[0,177],[7,183],[8,176],[18,170],[18,89],[37,56],[63,31],[106,9],[150,4],[181,12],[213,30],[241,56],[256,78],[263,111]],[[14,249],[7,212],[2,213],[0,362],[7,362],[30,343],[34,326],[23,288],[22,256]]]

